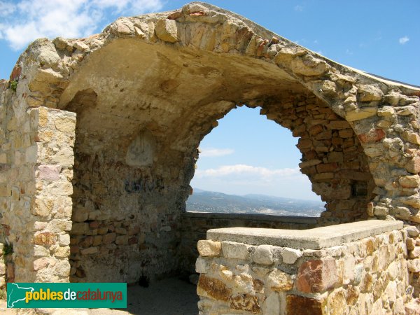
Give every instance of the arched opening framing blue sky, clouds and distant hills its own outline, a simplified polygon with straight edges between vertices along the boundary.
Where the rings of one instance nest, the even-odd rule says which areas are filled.
[[[187,211],[320,216],[324,203],[300,172],[302,153],[290,130],[232,109],[200,143]]]

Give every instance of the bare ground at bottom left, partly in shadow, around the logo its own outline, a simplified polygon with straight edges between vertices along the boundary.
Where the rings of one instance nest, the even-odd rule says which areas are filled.
[[[163,279],[148,288],[127,288],[127,309],[73,309],[72,314],[88,315],[197,315],[198,296],[196,286],[176,278]],[[0,300],[0,314],[15,315],[15,309],[7,309],[6,301]],[[56,311],[55,315],[70,314],[69,309]]]

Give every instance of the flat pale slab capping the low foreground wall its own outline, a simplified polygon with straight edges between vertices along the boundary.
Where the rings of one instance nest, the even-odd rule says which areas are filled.
[[[296,249],[321,249],[392,230],[400,230],[402,226],[402,221],[368,220],[309,230],[221,228],[208,230],[207,239],[213,241],[236,241],[252,245],[267,244]]]

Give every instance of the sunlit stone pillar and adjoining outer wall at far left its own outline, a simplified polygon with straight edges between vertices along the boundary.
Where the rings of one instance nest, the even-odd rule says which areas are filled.
[[[73,113],[31,108],[15,66],[1,94],[1,242],[6,281],[68,281]],[[15,86],[10,85],[14,82]]]

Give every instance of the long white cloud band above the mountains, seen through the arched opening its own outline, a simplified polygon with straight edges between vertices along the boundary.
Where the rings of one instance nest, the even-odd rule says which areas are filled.
[[[253,167],[251,165],[237,164],[237,165],[223,165],[217,169],[197,169],[195,176],[202,177],[221,177],[232,175],[251,175],[258,176],[263,179],[268,179],[271,176],[293,176],[301,174],[299,169],[267,169],[266,167]]]

